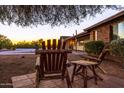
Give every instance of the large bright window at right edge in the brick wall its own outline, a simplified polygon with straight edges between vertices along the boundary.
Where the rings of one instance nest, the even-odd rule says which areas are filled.
[[[124,22],[113,26],[113,40],[124,38]]]

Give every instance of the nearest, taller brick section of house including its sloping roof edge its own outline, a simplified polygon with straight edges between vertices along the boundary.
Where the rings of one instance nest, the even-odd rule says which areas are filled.
[[[117,38],[124,38],[124,11],[90,26],[84,31],[90,32],[90,40],[110,42]]]

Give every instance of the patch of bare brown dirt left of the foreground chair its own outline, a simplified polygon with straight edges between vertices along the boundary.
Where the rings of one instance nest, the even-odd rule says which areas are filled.
[[[0,56],[0,83],[11,83],[11,77],[35,71],[35,55]]]

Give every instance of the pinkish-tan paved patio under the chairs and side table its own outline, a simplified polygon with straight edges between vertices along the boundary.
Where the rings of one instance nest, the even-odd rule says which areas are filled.
[[[100,74],[100,73],[99,73]],[[88,81],[88,88],[123,88],[124,80],[118,77],[100,74],[103,81],[98,81],[95,85],[94,80]],[[13,88],[34,88],[35,87],[35,73],[12,77]],[[83,88],[83,79],[81,76],[76,76],[73,88]],[[43,80],[41,81],[40,88],[67,88],[66,81],[64,80]]]

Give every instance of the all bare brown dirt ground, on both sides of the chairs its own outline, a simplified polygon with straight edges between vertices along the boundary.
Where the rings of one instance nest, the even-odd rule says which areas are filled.
[[[0,56],[0,83],[11,83],[11,77],[35,72],[35,55]],[[69,60],[82,59],[74,54],[69,54]],[[124,69],[119,63],[104,61],[101,67],[108,75],[124,79]]]

